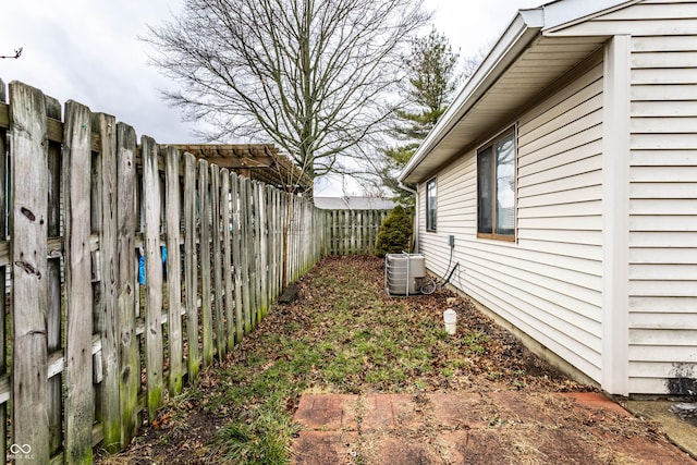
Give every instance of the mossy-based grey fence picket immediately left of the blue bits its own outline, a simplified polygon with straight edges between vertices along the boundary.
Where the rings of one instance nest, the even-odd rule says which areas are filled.
[[[138,344],[135,334],[135,151],[133,127],[117,124],[117,244],[118,244],[118,313],[119,313],[119,396],[121,413],[121,446],[131,443],[138,428]]]

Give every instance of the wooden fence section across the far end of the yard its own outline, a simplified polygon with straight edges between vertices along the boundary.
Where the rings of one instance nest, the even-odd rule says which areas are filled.
[[[390,210],[325,210],[329,255],[374,254],[380,224]]]

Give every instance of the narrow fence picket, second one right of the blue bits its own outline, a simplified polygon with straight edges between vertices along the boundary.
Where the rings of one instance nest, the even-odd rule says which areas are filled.
[[[196,159],[184,154],[184,286],[186,292],[186,340],[188,342],[188,380],[196,379],[199,369],[198,352],[198,259],[196,253]]]

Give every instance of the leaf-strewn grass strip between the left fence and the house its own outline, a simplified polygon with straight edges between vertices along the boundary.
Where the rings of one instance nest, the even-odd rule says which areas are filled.
[[[192,412],[218,428],[196,444],[197,455],[223,463],[290,463],[297,433],[292,415],[304,392],[535,386],[527,371],[531,358],[519,356],[513,343],[493,344],[498,327],[465,301],[457,304],[458,333],[452,336],[442,322],[450,294],[388,297],[383,273],[383,261],[372,257],[321,260],[299,281],[298,301],[273,305],[222,363],[204,370],[167,407],[180,429],[192,428]],[[516,357],[509,356],[512,351]],[[552,379],[537,371],[545,382]],[[162,462],[176,450],[172,438],[162,440],[167,450],[160,455],[154,453]]]

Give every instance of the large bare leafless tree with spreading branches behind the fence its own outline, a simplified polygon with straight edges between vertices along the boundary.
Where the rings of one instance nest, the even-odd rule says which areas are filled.
[[[185,0],[145,38],[181,90],[167,99],[209,142],[284,149],[311,178],[365,157],[402,78],[400,53],[429,20],[423,0]],[[351,164],[351,163],[348,163]]]

